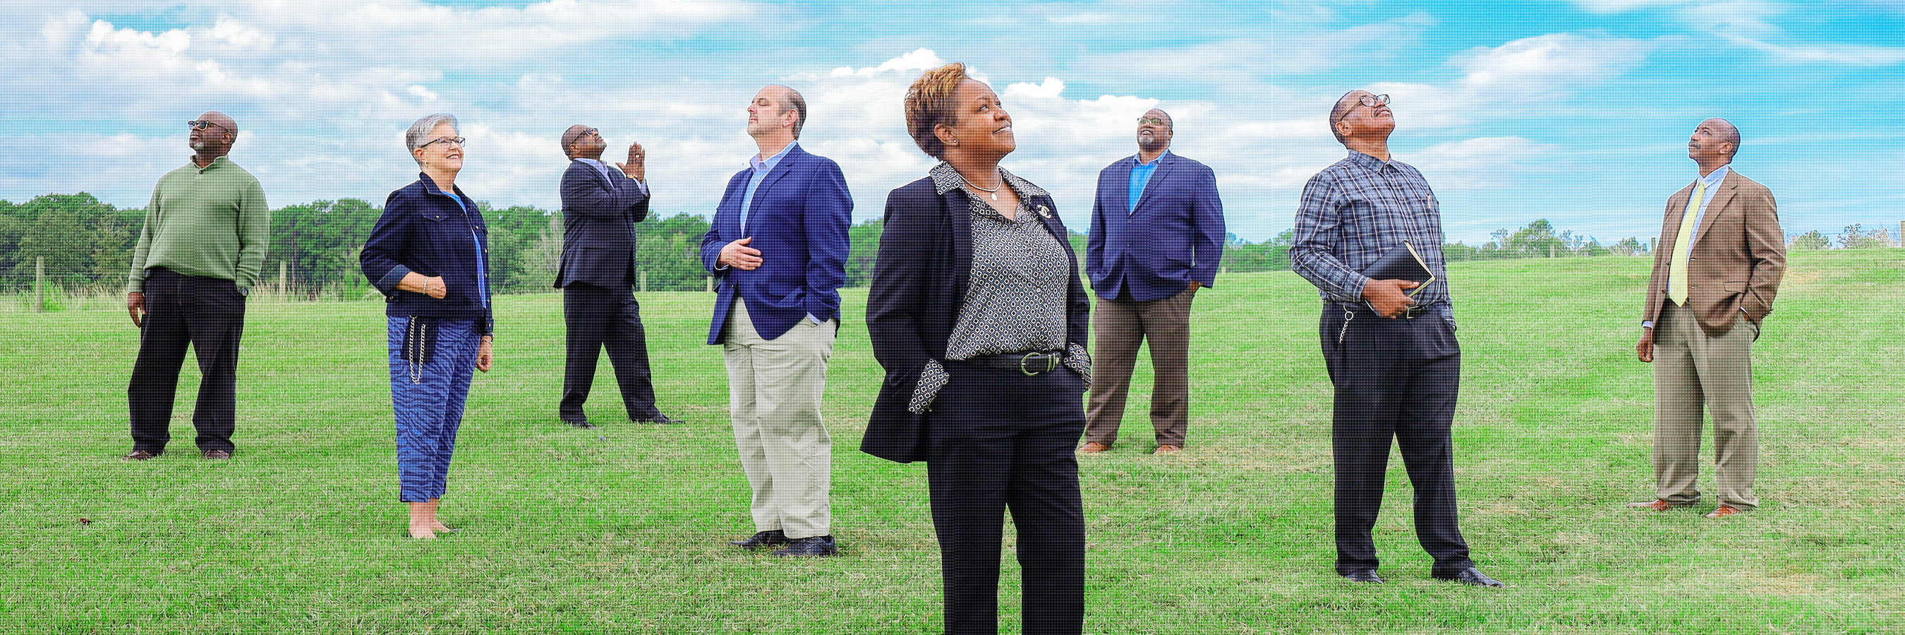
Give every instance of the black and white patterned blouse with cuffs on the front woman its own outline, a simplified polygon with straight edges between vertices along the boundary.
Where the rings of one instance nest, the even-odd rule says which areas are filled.
[[[972,212],[972,273],[966,299],[952,320],[947,338],[947,358],[966,360],[985,355],[1065,351],[1065,366],[1092,381],[1092,360],[1084,347],[1065,341],[1065,294],[1071,282],[1071,257],[1059,238],[1040,217],[1050,217],[1046,206],[1033,206],[1033,196],[1046,191],[1004,168],[1004,183],[1019,195],[1013,217],[1006,217],[985,202],[949,162],[933,166],[933,191],[966,193]],[[907,402],[911,412],[932,410],[933,397],[949,376],[939,360],[928,360],[920,383]]]

